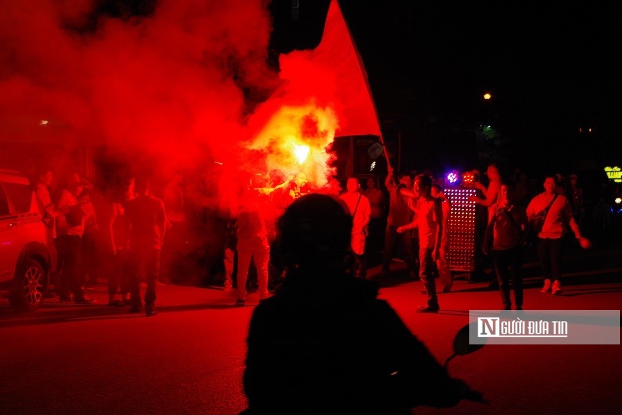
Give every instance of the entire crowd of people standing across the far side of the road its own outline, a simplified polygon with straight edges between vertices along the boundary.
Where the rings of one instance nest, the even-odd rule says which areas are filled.
[[[578,176],[570,174],[560,181],[559,174],[552,174],[543,182],[544,192],[538,192],[537,183],[520,169],[503,176],[490,164],[485,174],[473,174],[480,180],[463,185],[478,190],[471,199],[487,212],[476,250],[493,269],[491,286],[500,290],[502,306],[511,308],[509,288],[513,287],[513,303],[522,308],[521,253],[530,232],[543,267],[543,292],[561,293],[563,238],[570,230],[581,246],[591,244],[582,234],[587,219]],[[419,279],[427,296],[418,311],[436,313],[440,310],[437,291],[447,293],[453,286],[447,260],[451,200],[444,194],[449,184],[431,172],[396,173],[390,167],[384,188],[381,177],[364,179],[346,178],[339,195],[353,219],[350,273],[368,279],[373,264],[381,265],[377,277],[387,277],[392,274],[392,261],[404,261],[408,278]],[[191,203],[183,176],[174,174],[158,188],[153,188],[147,177],[125,177],[97,187],[74,172],[61,177],[55,189],[53,183],[53,170],[43,169],[35,185],[46,212],[44,221],[50,223],[48,245],[57,257],[50,295],[55,293],[62,302],[92,304],[85,288],[103,277],[110,306],[130,306],[135,313],[144,306],[147,315],[155,315],[158,282],[179,278],[173,262],[191,228]],[[266,201],[261,192],[244,191],[236,212],[220,218],[223,234],[217,240],[222,246],[215,259],[222,264],[223,289],[236,288],[237,305],[245,304],[248,291],[258,290],[261,299],[269,297],[277,285],[275,280],[281,282],[285,275],[270,252],[274,242],[270,225],[274,224],[263,214]],[[530,223],[549,202],[543,227],[533,234]],[[608,209],[594,207],[596,227],[607,225],[608,213]],[[213,270],[204,272],[205,279],[211,280]],[[146,285],[144,297],[140,297],[140,282]]]

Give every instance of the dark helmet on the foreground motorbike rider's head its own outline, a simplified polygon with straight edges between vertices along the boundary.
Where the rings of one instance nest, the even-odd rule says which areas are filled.
[[[306,194],[285,210],[278,229],[276,253],[283,265],[318,268],[348,255],[352,216],[337,198]]]

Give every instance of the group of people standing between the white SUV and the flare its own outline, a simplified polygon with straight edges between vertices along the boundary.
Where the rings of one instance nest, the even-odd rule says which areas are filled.
[[[85,288],[107,279],[109,306],[156,315],[156,286],[164,234],[170,228],[164,201],[153,196],[148,177],[128,177],[98,192],[71,172],[52,189],[53,169],[39,172],[35,184],[48,246],[56,259],[48,297],[59,302],[93,304]],[[140,293],[141,277],[147,284]]]

